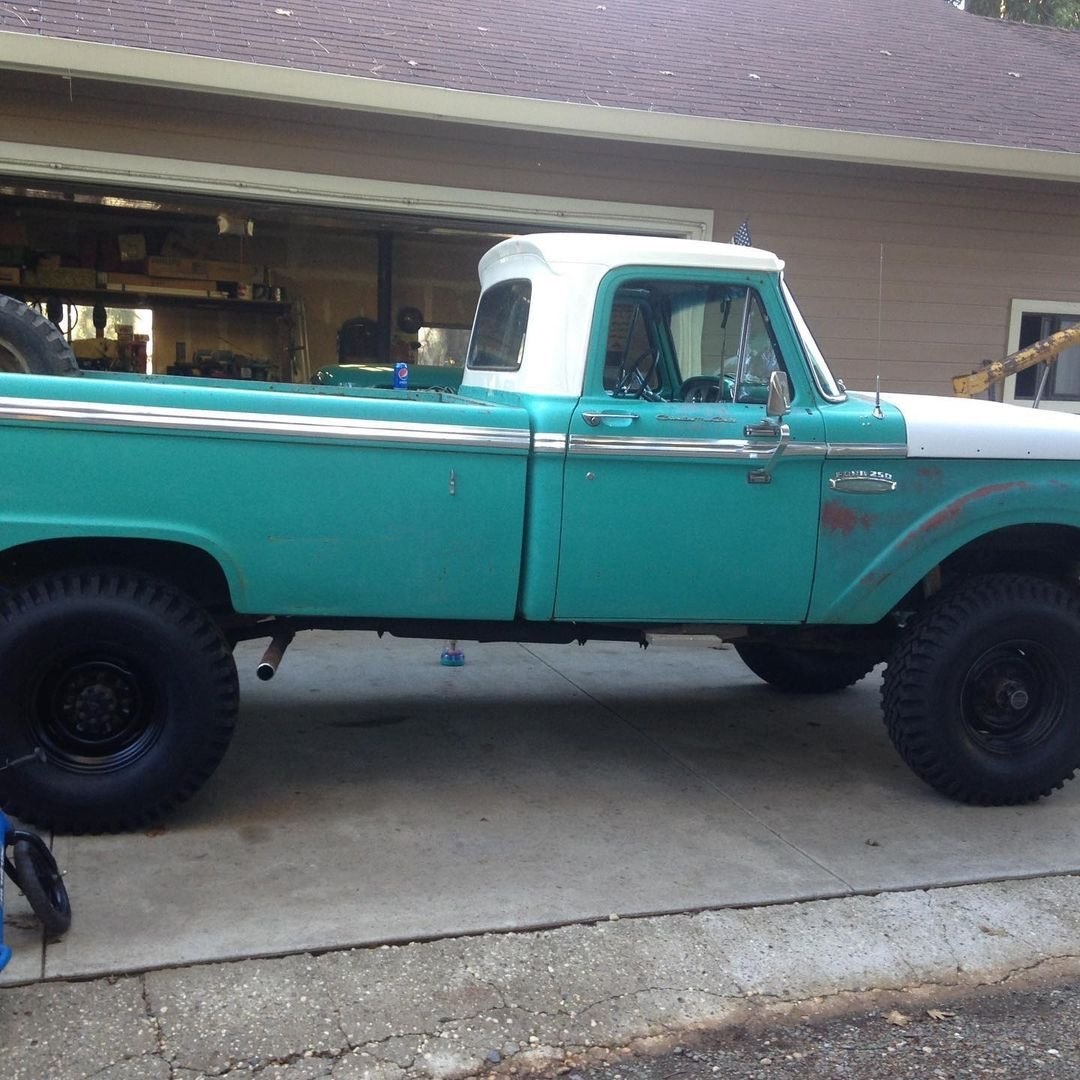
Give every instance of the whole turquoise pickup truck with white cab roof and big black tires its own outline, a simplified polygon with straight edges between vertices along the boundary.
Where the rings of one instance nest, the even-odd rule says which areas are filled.
[[[145,824],[226,752],[237,642],[715,634],[787,692],[886,662],[900,754],[972,804],[1080,765],[1080,421],[852,393],[748,247],[504,241],[461,386],[80,373],[0,299],[0,775]]]

